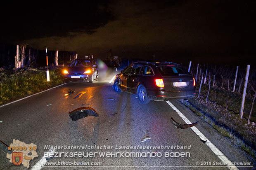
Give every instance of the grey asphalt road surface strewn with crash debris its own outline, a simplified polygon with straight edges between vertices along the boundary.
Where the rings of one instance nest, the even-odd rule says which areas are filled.
[[[98,155],[92,158],[52,158],[50,162],[100,162],[97,166],[44,165],[42,169],[228,169],[227,166],[206,166],[211,162],[221,163],[216,154],[201,142],[191,130],[177,129],[171,123],[184,124],[183,119],[166,103],[151,101],[140,104],[135,95],[116,93],[108,82],[116,74],[110,69],[101,82],[71,82],[19,102],[0,107],[0,140],[11,144],[18,139],[26,144],[37,145],[38,157],[30,161],[30,169],[42,159],[51,146],[109,146],[111,149],[56,149],[55,152],[157,152],[160,157],[107,157]],[[64,96],[69,89],[75,91]],[[86,93],[73,99],[81,91]],[[250,157],[236,142],[220,135],[208,123],[196,116],[179,100],[171,103],[196,126],[231,162],[251,162]],[[48,105],[48,106],[47,106]],[[69,118],[69,111],[78,107],[92,107],[100,115],[77,121]],[[145,137],[151,138],[141,142]],[[191,146],[190,149],[116,149],[120,146]],[[187,152],[186,157],[165,157],[165,152]],[[204,166],[197,166],[204,163]],[[249,167],[237,167],[251,169]],[[1,169],[26,169],[23,165],[9,163],[6,154],[0,151]]]

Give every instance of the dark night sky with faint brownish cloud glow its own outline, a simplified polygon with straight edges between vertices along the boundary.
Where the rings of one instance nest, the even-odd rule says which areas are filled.
[[[1,42],[102,59],[112,49],[140,60],[256,61],[255,0],[33,3],[1,2]]]

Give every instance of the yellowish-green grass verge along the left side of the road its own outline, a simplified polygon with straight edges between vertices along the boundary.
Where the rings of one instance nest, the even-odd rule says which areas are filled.
[[[0,105],[64,83],[61,71],[61,68],[50,70],[50,82],[47,82],[45,70],[1,70]]]

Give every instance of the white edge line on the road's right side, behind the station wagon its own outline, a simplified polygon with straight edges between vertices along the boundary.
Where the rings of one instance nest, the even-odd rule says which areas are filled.
[[[185,123],[191,124],[190,120],[187,119],[187,117],[184,114],[182,114],[170,101],[166,101],[166,102],[169,106],[171,106],[173,110],[175,110],[175,112],[178,113],[178,115],[183,119],[183,121],[185,121]],[[218,156],[218,158],[220,158],[220,160],[223,163],[227,164],[230,170],[238,170],[238,168],[232,165],[232,162],[209,139],[207,139],[207,137],[203,133],[201,133],[200,130],[198,130],[198,128],[193,126],[191,127],[191,129],[194,131],[194,133],[197,134],[197,136],[200,137],[201,140],[204,140],[204,141],[207,140],[206,145],[213,151],[214,154]]]

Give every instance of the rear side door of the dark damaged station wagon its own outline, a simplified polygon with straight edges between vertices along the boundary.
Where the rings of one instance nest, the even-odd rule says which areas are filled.
[[[137,85],[140,82],[142,65],[135,65],[127,79],[127,88],[131,93],[137,94]]]

